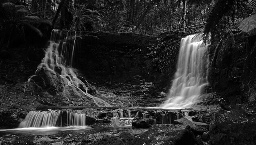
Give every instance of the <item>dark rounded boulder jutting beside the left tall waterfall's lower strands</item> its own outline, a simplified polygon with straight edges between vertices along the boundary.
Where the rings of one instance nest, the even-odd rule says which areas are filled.
[[[45,90],[51,94],[58,94],[63,92],[65,82],[60,75],[54,71],[47,70],[42,67],[36,71],[36,75],[42,77],[45,81]]]

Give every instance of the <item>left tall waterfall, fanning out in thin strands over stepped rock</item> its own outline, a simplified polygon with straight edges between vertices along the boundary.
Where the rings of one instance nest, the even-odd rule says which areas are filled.
[[[88,94],[85,83],[76,76],[75,70],[72,68],[79,48],[78,38],[80,35],[81,32],[52,30],[49,46],[45,51],[45,57],[41,64],[38,65],[35,74],[40,74],[38,72],[41,68],[46,69],[54,75],[59,75],[65,82],[65,86],[74,86],[82,94],[93,99],[95,104],[111,106],[106,101]],[[35,82],[36,75],[31,76],[28,81]]]

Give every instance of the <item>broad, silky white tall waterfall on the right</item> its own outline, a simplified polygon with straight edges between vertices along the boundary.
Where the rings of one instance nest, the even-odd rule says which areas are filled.
[[[167,100],[161,108],[190,108],[198,103],[200,93],[207,85],[207,45],[202,36],[182,38],[177,70]]]

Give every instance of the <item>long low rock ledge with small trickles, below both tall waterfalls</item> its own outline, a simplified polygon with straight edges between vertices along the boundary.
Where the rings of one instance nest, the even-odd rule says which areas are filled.
[[[139,108],[139,107],[91,107],[91,106],[39,106],[36,111],[60,110],[79,112],[87,117],[86,125],[97,126],[99,122],[105,121],[102,126],[124,126],[130,123],[118,124],[119,120],[131,120],[138,118],[149,124],[173,124],[173,121],[181,118],[191,118],[196,114],[207,113],[206,110],[193,109],[164,109],[164,108]],[[116,121],[113,122],[113,117]],[[192,121],[192,119],[191,119]],[[111,123],[112,122],[112,123]],[[110,124],[109,124],[110,123]]]

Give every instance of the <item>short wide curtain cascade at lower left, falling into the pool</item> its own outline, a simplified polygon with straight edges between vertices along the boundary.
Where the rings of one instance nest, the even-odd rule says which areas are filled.
[[[66,117],[60,110],[30,111],[19,125],[23,127],[54,127],[59,124],[63,126],[85,126],[85,114],[66,111]]]

